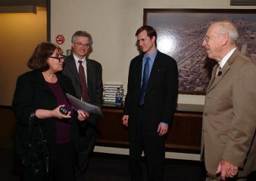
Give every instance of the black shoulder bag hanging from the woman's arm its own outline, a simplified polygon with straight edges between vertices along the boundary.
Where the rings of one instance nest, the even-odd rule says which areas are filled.
[[[35,112],[32,112],[29,117],[29,138],[26,147],[26,154],[22,161],[24,168],[24,179],[32,180],[47,180],[49,173],[49,152],[46,147],[46,140],[42,133],[40,125],[33,127]],[[32,141],[33,129],[38,129],[38,138]]]

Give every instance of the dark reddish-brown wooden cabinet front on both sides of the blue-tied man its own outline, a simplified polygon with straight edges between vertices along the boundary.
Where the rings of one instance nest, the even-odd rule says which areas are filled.
[[[122,124],[121,109],[103,108],[96,145],[128,147],[128,130]],[[202,131],[202,113],[175,113],[166,138],[166,150],[199,152]]]

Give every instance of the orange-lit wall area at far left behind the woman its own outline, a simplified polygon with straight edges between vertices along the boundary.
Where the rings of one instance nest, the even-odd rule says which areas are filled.
[[[0,22],[0,105],[10,106],[17,76],[29,71],[26,62],[36,45],[47,41],[47,11],[1,13]]]

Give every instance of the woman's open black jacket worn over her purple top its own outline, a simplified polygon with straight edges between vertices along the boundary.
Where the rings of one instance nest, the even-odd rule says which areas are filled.
[[[67,76],[56,73],[61,89],[64,93],[76,96],[76,92],[71,81]],[[12,108],[15,117],[17,118],[17,126],[15,128],[15,137],[13,144],[14,157],[22,160],[26,151],[26,142],[29,134],[29,117],[31,112],[37,109],[53,110],[56,108],[57,102],[51,89],[48,87],[44,76],[40,71],[29,71],[20,75],[17,79],[15,94],[13,97]],[[44,138],[47,141],[50,158],[56,158],[56,122],[55,118],[49,119],[34,119],[34,127],[32,134],[32,143],[35,143],[38,137],[38,129],[36,125],[42,127]],[[74,112],[70,119],[72,125],[72,143],[77,151],[78,147],[78,120],[77,112]]]

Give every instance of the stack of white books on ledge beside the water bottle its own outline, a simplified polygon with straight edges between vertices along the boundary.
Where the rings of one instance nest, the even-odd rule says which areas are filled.
[[[114,83],[114,82],[108,82],[103,83],[103,101],[108,103],[115,103],[116,101],[116,92],[119,89],[120,93],[122,95],[122,98],[124,98],[124,88],[122,83]]]

